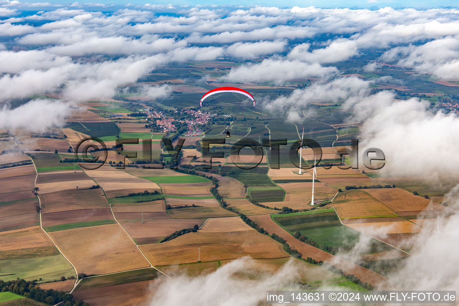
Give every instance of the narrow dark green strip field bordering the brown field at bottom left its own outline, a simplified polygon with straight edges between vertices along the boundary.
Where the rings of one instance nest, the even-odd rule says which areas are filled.
[[[76,291],[108,287],[120,284],[141,282],[155,279],[160,274],[155,268],[146,268],[110,275],[98,276],[94,278],[84,278],[75,289]]]

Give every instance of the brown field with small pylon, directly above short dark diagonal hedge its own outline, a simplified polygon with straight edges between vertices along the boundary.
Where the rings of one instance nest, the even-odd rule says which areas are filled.
[[[128,231],[138,245],[158,243],[162,238],[184,228],[201,226],[205,219],[177,219],[165,212],[126,212],[115,213],[118,222]]]

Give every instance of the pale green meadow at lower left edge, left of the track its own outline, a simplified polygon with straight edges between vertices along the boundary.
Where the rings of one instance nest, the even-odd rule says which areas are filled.
[[[61,255],[4,259],[0,260],[0,279],[4,281],[24,278],[34,280],[42,278],[43,281],[53,281],[65,276],[76,276],[75,270]]]

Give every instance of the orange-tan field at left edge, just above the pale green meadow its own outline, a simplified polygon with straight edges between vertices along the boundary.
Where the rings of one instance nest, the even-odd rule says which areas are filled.
[[[54,246],[39,226],[0,233],[0,251]]]

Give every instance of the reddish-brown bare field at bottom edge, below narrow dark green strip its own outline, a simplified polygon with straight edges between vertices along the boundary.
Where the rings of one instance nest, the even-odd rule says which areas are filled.
[[[148,305],[157,280],[101,287],[84,291],[74,291],[75,299],[84,300],[94,306]]]

